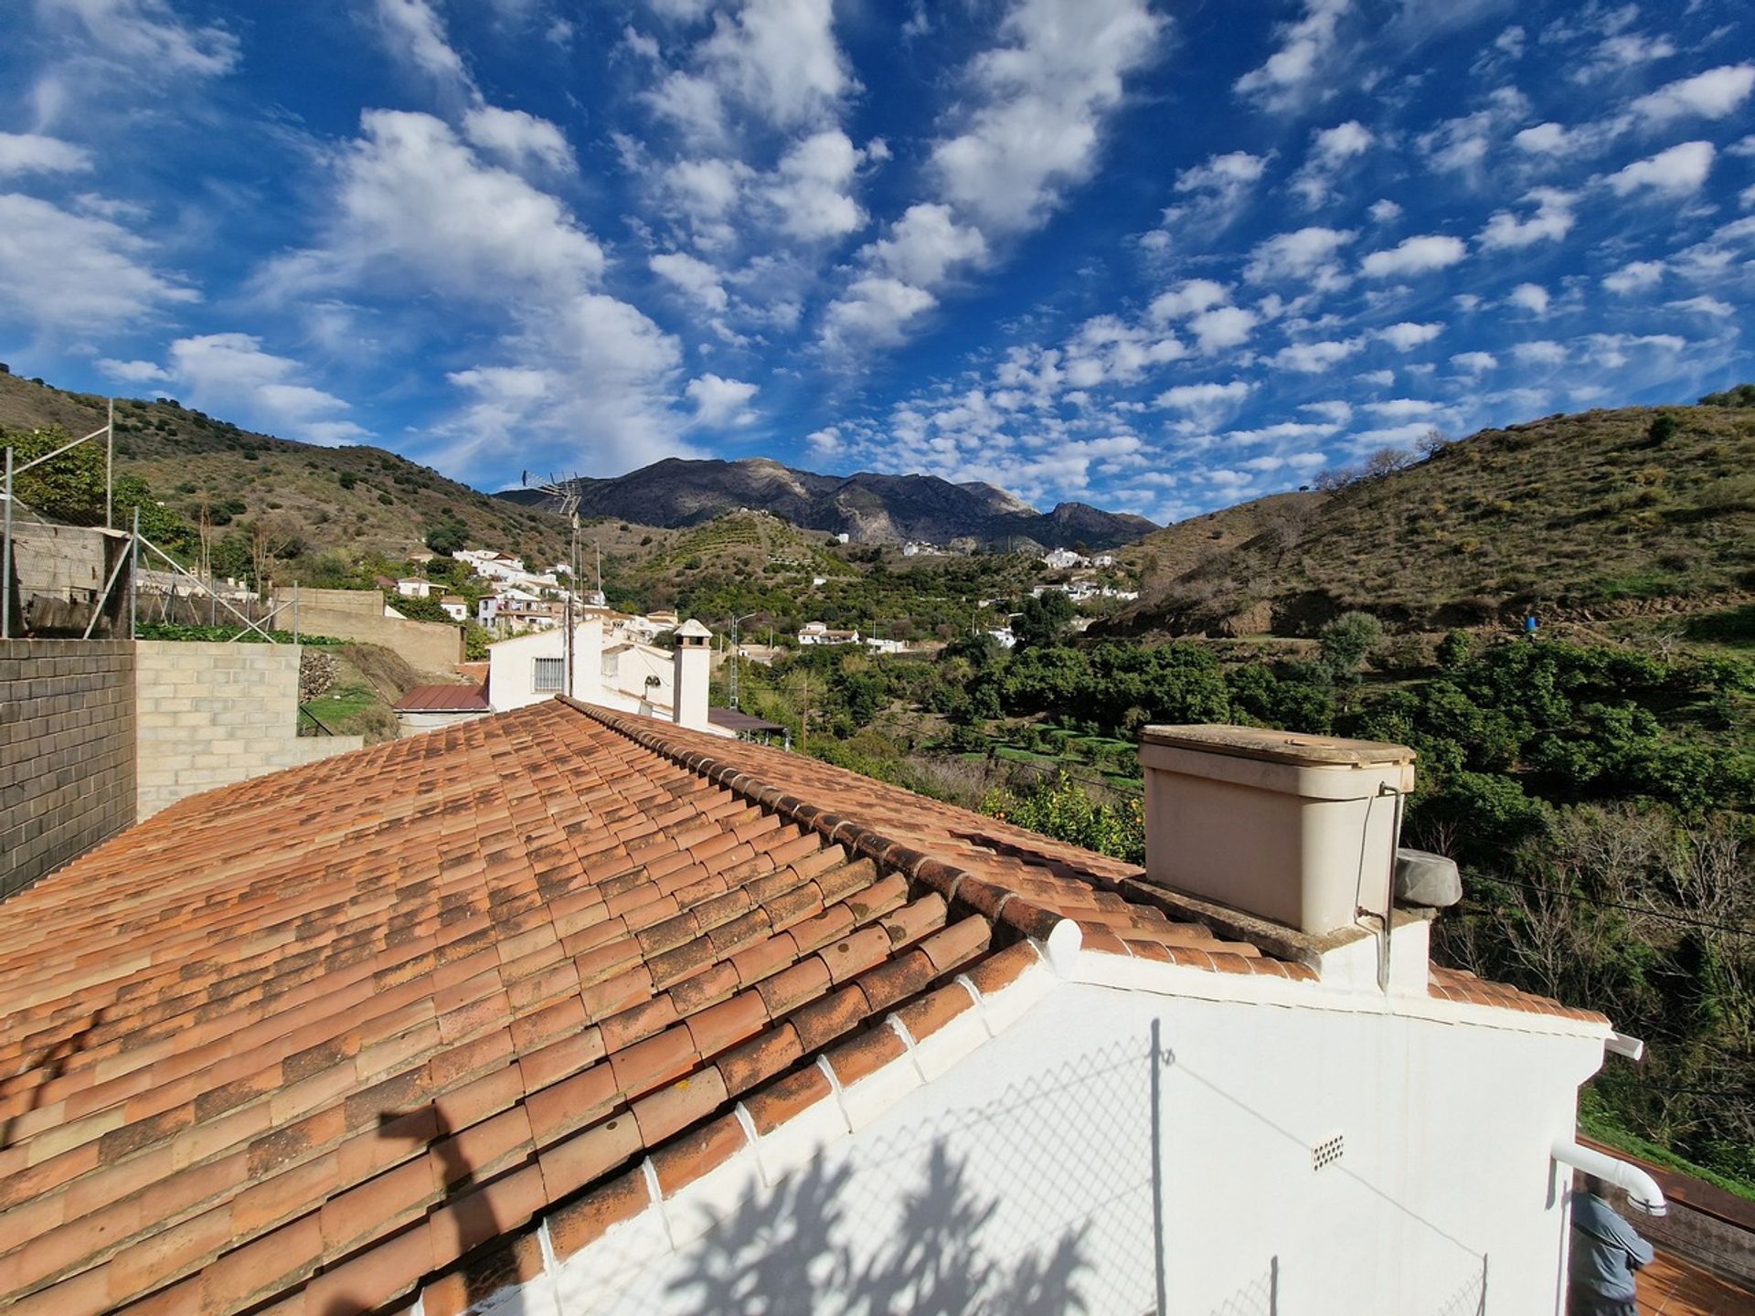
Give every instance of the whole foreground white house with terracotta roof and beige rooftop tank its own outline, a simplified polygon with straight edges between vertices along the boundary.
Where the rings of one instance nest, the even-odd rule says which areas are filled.
[[[16,895],[0,1300],[1548,1316],[1574,1165],[1662,1205],[1574,1144],[1636,1044],[1430,963],[1409,751],[1148,728],[1137,869],[706,733],[681,632],[679,721],[549,698]]]

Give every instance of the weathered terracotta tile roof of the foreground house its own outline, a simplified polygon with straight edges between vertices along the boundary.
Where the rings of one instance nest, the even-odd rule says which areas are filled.
[[[834,805],[834,812],[825,809]],[[1037,962],[1313,977],[1137,870],[807,758],[565,702],[184,800],[7,902],[0,1300],[470,1297],[570,1255]],[[960,979],[962,981],[962,979]],[[479,1293],[476,1293],[479,1297]]]

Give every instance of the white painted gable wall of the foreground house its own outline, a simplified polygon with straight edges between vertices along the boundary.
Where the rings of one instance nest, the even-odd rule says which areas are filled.
[[[842,1135],[790,1176],[746,1151],[518,1300],[569,1316],[1137,1316],[1162,1274],[1171,1312],[1553,1316],[1565,1212],[1548,1146],[1572,1130],[1601,1039],[1330,998],[1055,986],[870,1123],[867,1090],[893,1079],[851,1088],[858,1132],[839,1109],[806,1112]],[[1334,1135],[1343,1156],[1313,1169]]]

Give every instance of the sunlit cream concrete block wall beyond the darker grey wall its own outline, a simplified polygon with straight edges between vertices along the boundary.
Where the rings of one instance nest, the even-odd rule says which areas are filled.
[[[137,809],[358,749],[298,735],[298,646],[139,640]]]

